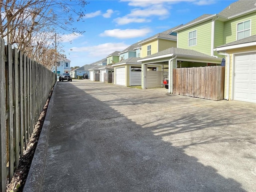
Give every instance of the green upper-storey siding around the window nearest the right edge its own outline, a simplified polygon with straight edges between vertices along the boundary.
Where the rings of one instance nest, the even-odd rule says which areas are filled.
[[[255,14],[256,14],[256,12],[225,22],[224,23],[224,42],[223,42],[223,44],[236,41],[237,24],[240,22],[243,22],[243,21],[251,20],[251,36],[256,35],[256,16],[255,16]]]

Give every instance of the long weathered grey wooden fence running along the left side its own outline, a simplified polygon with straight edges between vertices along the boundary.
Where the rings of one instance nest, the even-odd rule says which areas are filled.
[[[50,70],[0,39],[0,191],[12,179],[56,82]]]

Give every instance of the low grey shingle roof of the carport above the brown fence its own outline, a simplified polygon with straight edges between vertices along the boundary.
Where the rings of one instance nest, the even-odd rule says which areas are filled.
[[[174,55],[184,55],[184,56],[192,56],[192,57],[204,57],[204,58],[214,58],[212,56],[209,56],[207,54],[195,51],[195,50],[189,50],[189,49],[181,49],[181,48],[168,48],[166,50],[160,51],[158,53],[146,56],[142,59],[147,59],[147,58],[153,58],[153,57],[157,57],[157,56],[163,56],[163,55],[167,55],[167,54],[174,54]],[[138,59],[139,60],[139,59]]]

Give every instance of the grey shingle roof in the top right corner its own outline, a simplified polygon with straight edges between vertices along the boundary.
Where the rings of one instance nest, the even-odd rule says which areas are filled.
[[[222,10],[219,14],[227,18],[256,9],[256,0],[239,0]]]

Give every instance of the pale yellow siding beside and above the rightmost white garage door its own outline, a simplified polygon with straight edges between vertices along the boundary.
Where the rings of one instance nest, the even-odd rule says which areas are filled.
[[[245,48],[237,48],[237,49],[230,49],[227,50],[227,53],[230,54],[230,74],[229,74],[229,100],[232,98],[232,84],[233,84],[233,70],[234,70],[234,54],[239,54],[239,53],[245,53],[245,52],[252,52],[256,50],[256,46],[250,46],[250,47],[245,47]],[[226,65],[226,70],[225,70],[225,82],[227,82],[227,65]],[[225,84],[225,91],[224,91],[224,98],[226,98],[227,92],[226,92],[226,86]]]

